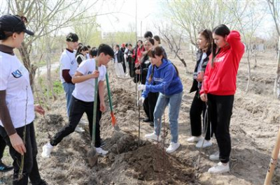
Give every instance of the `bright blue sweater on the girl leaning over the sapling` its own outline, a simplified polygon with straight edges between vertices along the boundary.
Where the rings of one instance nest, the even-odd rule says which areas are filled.
[[[153,66],[150,65],[146,79],[146,89],[143,91],[142,97],[147,98],[149,92],[160,92],[171,96],[183,91],[183,84],[171,61],[162,59],[162,65],[154,67],[153,79],[149,82],[152,69]]]

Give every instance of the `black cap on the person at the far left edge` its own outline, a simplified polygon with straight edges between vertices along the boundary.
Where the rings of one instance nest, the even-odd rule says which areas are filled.
[[[0,17],[0,31],[25,32],[30,36],[34,36],[34,32],[29,31],[25,27],[25,22],[18,15],[3,15]]]

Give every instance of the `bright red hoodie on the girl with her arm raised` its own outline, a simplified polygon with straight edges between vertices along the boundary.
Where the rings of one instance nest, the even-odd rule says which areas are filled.
[[[211,66],[212,54],[210,55],[200,94],[235,94],[237,71],[244,54],[244,44],[241,43],[238,31],[230,31],[226,41],[229,45],[221,48],[216,55],[214,67]]]

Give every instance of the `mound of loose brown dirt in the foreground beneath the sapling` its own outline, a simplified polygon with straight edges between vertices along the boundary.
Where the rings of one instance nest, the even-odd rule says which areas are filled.
[[[141,141],[125,132],[115,132],[109,156],[98,163],[100,184],[197,184],[194,169],[169,156],[161,145]]]

